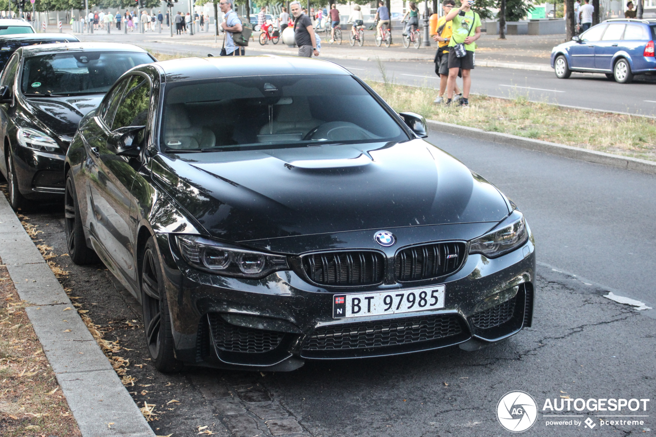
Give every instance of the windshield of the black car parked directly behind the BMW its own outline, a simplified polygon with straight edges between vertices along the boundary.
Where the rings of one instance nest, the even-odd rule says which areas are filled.
[[[26,96],[107,93],[123,73],[153,62],[148,53],[72,52],[27,58],[21,91]]]

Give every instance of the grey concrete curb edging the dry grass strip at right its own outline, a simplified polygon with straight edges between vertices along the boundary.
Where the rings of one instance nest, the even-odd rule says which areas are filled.
[[[507,144],[508,146],[521,147],[537,152],[656,175],[656,162],[647,161],[646,159],[607,154],[605,152],[597,152],[596,150],[565,146],[565,144],[557,144],[555,142],[533,140],[531,138],[524,138],[523,136],[488,132],[483,131],[483,129],[476,129],[475,127],[453,125],[451,123],[443,123],[442,121],[426,120],[426,122],[428,123],[429,129],[441,133],[468,136],[478,140],[498,142],[500,144]]]

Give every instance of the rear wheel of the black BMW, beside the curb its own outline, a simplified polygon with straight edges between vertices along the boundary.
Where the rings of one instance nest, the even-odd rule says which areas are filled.
[[[96,252],[87,246],[80,209],[77,205],[75,181],[70,172],[66,175],[66,188],[64,189],[64,230],[66,230],[68,255],[75,264],[83,266],[100,262]]]

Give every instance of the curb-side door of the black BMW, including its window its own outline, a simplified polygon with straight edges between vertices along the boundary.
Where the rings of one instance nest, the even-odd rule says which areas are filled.
[[[123,81],[125,91],[114,96],[114,101],[118,101],[115,110],[113,102],[108,101],[109,116],[105,119],[98,117],[96,121],[102,135],[98,135],[93,143],[89,143],[89,156],[95,171],[95,177],[90,178],[89,187],[94,227],[105,251],[103,259],[108,258],[112,264],[108,265],[108,268],[118,273],[118,278],[124,278],[128,282],[124,285],[131,288],[136,283],[136,266],[129,224],[132,203],[130,190],[141,162],[138,157],[118,154],[116,135],[113,134],[121,127],[147,124],[152,85],[148,76],[138,72]],[[111,123],[108,123],[110,118]],[[142,131],[141,135],[145,134],[145,131]]]

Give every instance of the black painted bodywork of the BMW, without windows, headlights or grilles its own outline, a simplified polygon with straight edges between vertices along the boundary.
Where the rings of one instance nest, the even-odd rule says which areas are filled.
[[[396,114],[394,119],[407,133],[407,141],[276,152],[178,156],[159,152],[158,127],[167,81],[210,77],[217,70],[224,76],[239,72],[256,74],[262,72],[265,62],[266,74],[289,74],[290,70],[350,74],[321,61],[302,64],[301,70],[296,60],[277,57],[220,63],[190,59],[184,63],[166,61],[140,66],[124,75],[140,72],[153,85],[146,141],[140,156],[113,153],[108,144],[111,132],[96,113],[83,118],[66,156],[66,171],[72,172],[76,191],[83,194],[78,196],[87,244],[138,300],[140,254],[147,239],[155,237],[165,272],[176,358],[188,364],[278,370],[302,365],[300,344],[304,336],[321,325],[344,323],[333,320],[331,306],[331,297],[343,293],[344,288],[311,283],[299,268],[298,257],[303,253],[373,249],[384,253],[388,266],[392,266],[395,253],[403,247],[431,241],[470,241],[494,228],[514,209],[497,188],[454,157],[417,138]],[[363,86],[393,113],[373,90]],[[396,236],[396,245],[384,248],[375,243],[373,234],[381,228]],[[182,260],[175,234],[199,234],[286,254],[292,269],[259,280],[200,272]],[[422,314],[447,312],[467,320],[477,304],[500,291],[522,285],[530,289],[532,296],[533,281],[535,246],[529,230],[525,245],[502,257],[469,255],[457,272],[438,282],[449,287],[445,309]],[[352,291],[385,291],[435,283],[399,283],[388,276],[380,285]],[[232,315],[231,323],[236,325],[255,323],[286,329],[289,335],[285,346],[269,356],[218,354],[209,360],[199,359],[199,326],[209,312]],[[403,318],[407,314],[393,317]],[[497,341],[530,325],[531,318],[527,312],[519,322],[493,338],[477,335],[476,328],[469,327],[467,335],[451,343],[370,351],[369,356],[413,352],[470,338],[483,343]],[[358,322],[380,319],[381,316],[370,316],[358,318]]]

